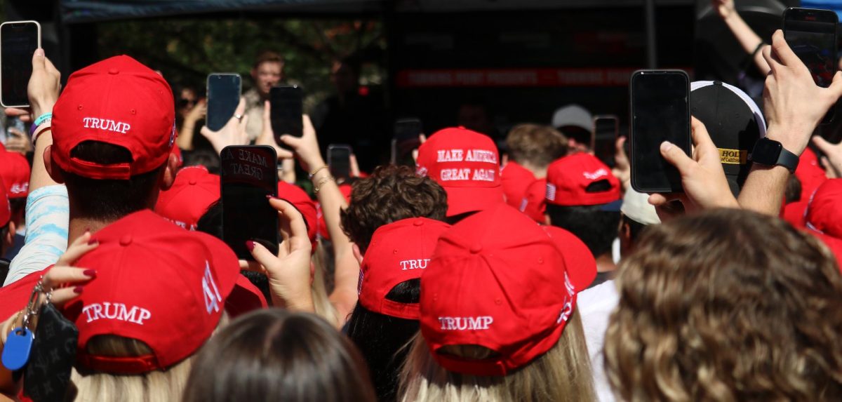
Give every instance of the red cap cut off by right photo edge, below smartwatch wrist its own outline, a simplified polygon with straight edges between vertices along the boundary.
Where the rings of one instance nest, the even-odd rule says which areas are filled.
[[[818,186],[810,202],[804,221],[808,228],[842,239],[842,178],[826,180]]]

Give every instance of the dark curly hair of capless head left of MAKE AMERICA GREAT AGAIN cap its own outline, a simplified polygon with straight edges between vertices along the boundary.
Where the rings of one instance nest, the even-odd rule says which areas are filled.
[[[444,220],[446,213],[447,193],[439,183],[410,167],[386,165],[354,182],[348,208],[339,215],[345,235],[365,252],[382,225],[415,217]]]

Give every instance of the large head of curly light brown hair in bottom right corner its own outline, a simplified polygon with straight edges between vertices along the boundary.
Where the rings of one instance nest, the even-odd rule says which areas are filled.
[[[813,236],[709,211],[649,228],[616,282],[618,399],[842,400],[842,276]]]

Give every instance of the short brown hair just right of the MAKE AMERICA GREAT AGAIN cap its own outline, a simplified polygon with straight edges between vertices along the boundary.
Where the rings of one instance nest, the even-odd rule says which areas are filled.
[[[506,135],[512,160],[546,167],[568,152],[568,138],[561,131],[541,124],[518,124]]]

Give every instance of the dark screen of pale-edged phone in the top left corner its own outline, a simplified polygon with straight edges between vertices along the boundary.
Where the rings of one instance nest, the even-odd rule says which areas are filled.
[[[20,22],[3,24],[0,29],[0,75],[3,81],[3,105],[29,106],[26,87],[32,75],[32,55],[38,49],[38,24]]]

